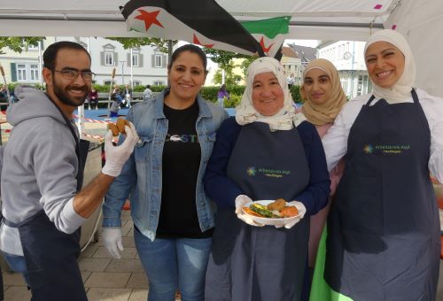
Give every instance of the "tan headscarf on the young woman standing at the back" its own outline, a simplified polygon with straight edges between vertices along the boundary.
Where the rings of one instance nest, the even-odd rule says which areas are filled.
[[[305,104],[303,104],[303,113],[309,122],[316,126],[323,126],[326,123],[334,122],[338,112],[340,112],[342,106],[346,104],[347,99],[345,92],[341,88],[338,71],[329,60],[318,58],[310,61],[303,72],[303,81],[305,81],[307,73],[312,69],[320,69],[328,74],[332,91],[330,93],[330,99],[324,104],[313,104],[306,95],[305,86],[302,85],[300,88],[300,96],[301,99],[305,101]]]

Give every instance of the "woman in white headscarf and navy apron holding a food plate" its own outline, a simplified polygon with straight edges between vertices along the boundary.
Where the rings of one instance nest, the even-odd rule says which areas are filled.
[[[257,58],[246,82],[236,117],[217,132],[204,178],[218,205],[206,300],[299,301],[307,216],[329,195],[323,147],[315,127],[295,112],[279,61]],[[261,224],[243,211],[253,201],[277,198],[299,215]]]

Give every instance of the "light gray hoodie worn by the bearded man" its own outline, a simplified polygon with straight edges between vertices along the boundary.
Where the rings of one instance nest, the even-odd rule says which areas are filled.
[[[85,221],[73,206],[78,168],[74,137],[42,91],[17,87],[15,94],[19,102],[6,112],[13,127],[4,147],[4,218],[19,223],[43,209],[58,230],[73,233]],[[2,224],[0,249],[23,254],[17,228]]]

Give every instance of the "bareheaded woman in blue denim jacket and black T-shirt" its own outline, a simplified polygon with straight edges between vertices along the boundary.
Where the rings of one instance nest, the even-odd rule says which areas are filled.
[[[228,115],[198,95],[206,55],[197,46],[175,50],[167,74],[169,89],[129,109],[140,140],[105,196],[103,236],[120,259],[120,213],[129,198],[148,299],[174,300],[179,289],[182,300],[204,300],[214,203],[202,179],[215,132]]]

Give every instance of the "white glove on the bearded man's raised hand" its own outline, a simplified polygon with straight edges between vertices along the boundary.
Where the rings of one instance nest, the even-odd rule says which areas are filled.
[[[105,158],[106,163],[102,168],[103,174],[116,177],[120,174],[121,168],[128,160],[134,147],[138,141],[136,127],[129,121],[129,125],[125,126],[126,139],[118,146],[113,146],[113,132],[108,130],[105,135]]]

